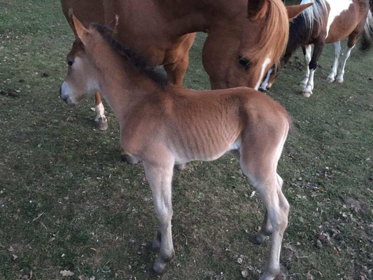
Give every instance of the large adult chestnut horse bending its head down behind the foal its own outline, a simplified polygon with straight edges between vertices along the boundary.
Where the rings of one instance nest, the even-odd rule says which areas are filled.
[[[119,16],[117,34],[148,60],[163,65],[172,84],[181,85],[188,51],[197,31],[209,33],[203,46],[203,65],[211,88],[258,88],[264,73],[279,62],[288,40],[289,18],[305,6],[281,0],[61,0],[63,13],[72,8],[87,25],[110,24]],[[107,120],[96,93],[97,125]]]

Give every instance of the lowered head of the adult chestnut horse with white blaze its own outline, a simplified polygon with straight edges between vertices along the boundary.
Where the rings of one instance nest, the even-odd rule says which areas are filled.
[[[285,50],[289,20],[309,5],[285,7],[281,0],[248,0],[241,15],[211,29],[203,47],[203,65],[211,88],[258,89]]]

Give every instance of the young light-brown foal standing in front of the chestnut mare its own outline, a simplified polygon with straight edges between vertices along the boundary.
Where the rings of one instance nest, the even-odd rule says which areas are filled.
[[[61,98],[73,105],[102,92],[119,120],[122,148],[143,162],[159,220],[152,243],[159,251],[154,271],[161,273],[174,256],[174,164],[212,161],[233,151],[267,209],[254,242],[262,243],[272,234],[269,259],[260,279],[273,280],[280,270],[289,212],[276,170],[291,126],[286,110],[252,88],[196,91],[167,86],[167,77],[113,39],[111,29],[100,24],[86,29],[74,16],[72,20],[78,38],[67,56],[69,69]]]

